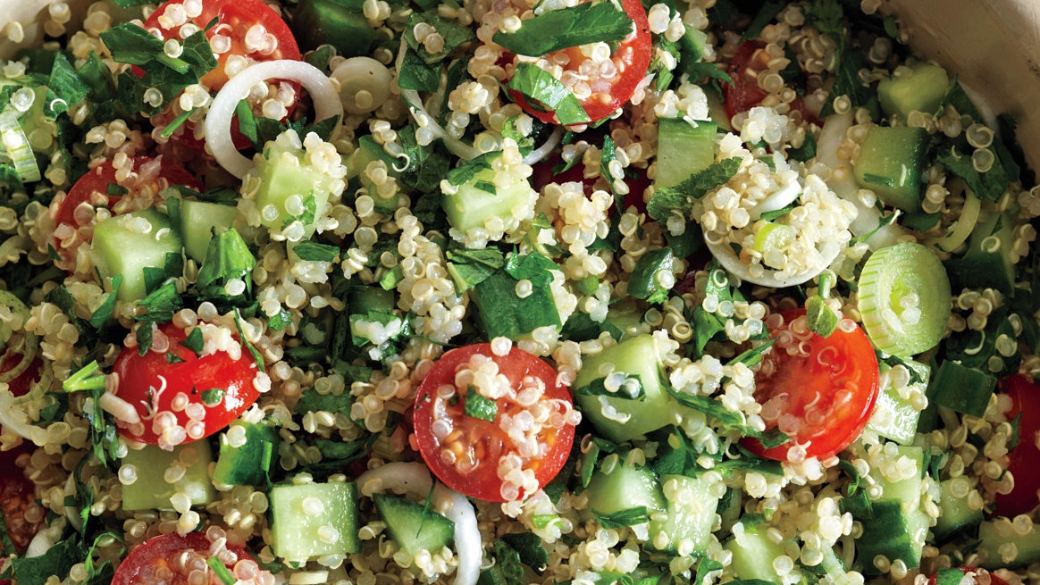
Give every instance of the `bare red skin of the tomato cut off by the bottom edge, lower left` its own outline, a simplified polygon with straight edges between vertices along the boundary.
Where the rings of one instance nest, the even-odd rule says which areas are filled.
[[[119,567],[115,568],[115,576],[112,577],[112,585],[134,585],[136,583],[152,582],[153,571],[156,569],[174,565],[177,557],[188,550],[193,550],[203,556],[208,557],[208,552],[212,542],[201,532],[188,532],[184,536],[179,534],[161,534],[153,536],[141,544],[138,544],[127,555]],[[239,559],[250,559],[249,553],[241,547],[226,543],[225,548],[235,553]],[[225,565],[229,569],[234,566]],[[210,574],[210,584],[219,584],[220,580]],[[165,581],[168,585],[185,585],[188,582],[187,576],[180,571],[172,571],[170,579]]]

